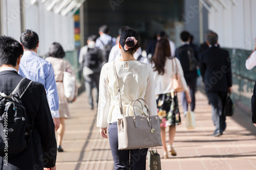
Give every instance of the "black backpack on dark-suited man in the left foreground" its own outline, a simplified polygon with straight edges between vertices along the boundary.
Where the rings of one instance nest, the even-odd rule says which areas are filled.
[[[0,92],[0,156],[18,155],[28,146],[33,124],[28,123],[22,96],[33,81],[22,91],[23,78],[10,95]]]

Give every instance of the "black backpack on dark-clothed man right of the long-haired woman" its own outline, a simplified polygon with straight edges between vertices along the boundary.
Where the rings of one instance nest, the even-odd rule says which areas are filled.
[[[178,50],[178,59],[180,60],[183,72],[194,71],[197,69],[197,59],[194,49],[187,45],[182,46]]]

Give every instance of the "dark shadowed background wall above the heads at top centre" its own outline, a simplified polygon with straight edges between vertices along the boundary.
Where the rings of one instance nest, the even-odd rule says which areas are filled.
[[[183,1],[177,0],[97,0],[84,2],[84,38],[98,35],[98,28],[106,24],[111,36],[118,36],[118,29],[129,26],[136,29],[145,46],[146,39],[165,30],[175,41],[174,22],[180,21]]]

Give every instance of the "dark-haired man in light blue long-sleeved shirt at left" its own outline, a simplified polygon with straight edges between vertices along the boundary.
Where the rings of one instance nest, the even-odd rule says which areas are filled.
[[[37,56],[39,38],[34,31],[24,31],[22,35],[20,35],[20,42],[23,45],[24,54],[22,56],[22,60],[20,60],[18,74],[29,80],[44,84],[55,124],[55,131],[57,131],[60,125],[58,111],[59,101],[52,65]]]

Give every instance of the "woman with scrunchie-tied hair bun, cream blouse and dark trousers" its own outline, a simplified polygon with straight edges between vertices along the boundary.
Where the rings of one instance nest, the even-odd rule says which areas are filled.
[[[140,36],[137,31],[127,29],[122,32],[119,40],[121,57],[115,62],[115,66],[123,109],[126,113],[126,107],[133,99],[144,98],[150,107],[151,115],[157,115],[152,68],[134,58],[134,53],[140,46]],[[115,169],[144,170],[147,149],[118,150],[117,119],[122,118],[122,115],[113,64],[113,62],[106,63],[101,69],[97,127],[100,127],[100,134],[104,138],[108,138],[106,134],[109,130]],[[141,109],[140,105],[135,106],[135,110],[141,111]]]

